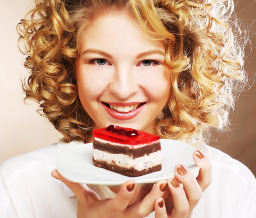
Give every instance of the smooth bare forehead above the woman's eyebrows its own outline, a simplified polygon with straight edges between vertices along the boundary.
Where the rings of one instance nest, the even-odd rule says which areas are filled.
[[[95,16],[81,34],[80,49],[97,47],[117,50],[120,47],[131,49],[161,48],[164,43],[147,33],[137,19],[127,10],[105,11]],[[132,52],[132,51],[130,51]]]

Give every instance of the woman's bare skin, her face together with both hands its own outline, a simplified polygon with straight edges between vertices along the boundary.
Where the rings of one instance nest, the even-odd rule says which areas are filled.
[[[156,117],[170,94],[164,45],[149,39],[128,12],[111,11],[92,20],[80,51],[76,71],[79,98],[95,128],[114,124],[154,133]],[[124,112],[108,107],[112,104],[122,109],[135,103],[143,104],[135,110],[136,116],[125,112],[125,118],[121,115]],[[114,115],[110,110],[115,110]],[[153,210],[155,218],[189,218],[211,183],[209,160],[198,151],[193,159],[200,167],[197,178],[179,165],[174,178],[143,187],[127,181],[112,189],[116,193],[112,199],[99,199],[95,192],[66,180],[57,170],[52,176],[76,195],[78,218],[143,218]]]

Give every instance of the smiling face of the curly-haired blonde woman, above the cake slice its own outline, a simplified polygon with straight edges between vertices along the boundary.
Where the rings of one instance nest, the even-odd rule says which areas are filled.
[[[170,94],[165,47],[149,39],[126,12],[94,19],[84,32],[77,60],[79,99],[95,122],[154,133]]]

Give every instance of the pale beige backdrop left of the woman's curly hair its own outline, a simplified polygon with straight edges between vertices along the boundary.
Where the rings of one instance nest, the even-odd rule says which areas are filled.
[[[1,0],[0,20],[0,163],[58,141],[61,135],[37,114],[38,106],[23,103],[24,55],[18,51],[16,25],[32,0]]]

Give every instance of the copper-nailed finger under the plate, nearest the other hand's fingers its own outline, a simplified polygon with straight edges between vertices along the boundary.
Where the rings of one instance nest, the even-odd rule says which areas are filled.
[[[167,187],[168,184],[166,180],[157,182],[152,190],[145,196],[145,198],[143,198],[143,200],[141,200],[141,202],[134,207],[137,216],[148,216],[148,214],[154,210],[155,201],[164,196]]]

